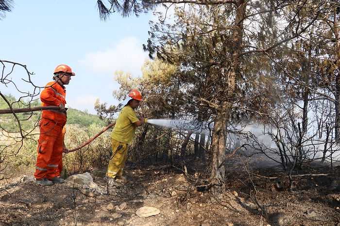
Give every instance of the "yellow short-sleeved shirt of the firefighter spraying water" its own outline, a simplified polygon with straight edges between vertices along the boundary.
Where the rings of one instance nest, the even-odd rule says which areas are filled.
[[[135,136],[136,121],[139,121],[139,119],[135,110],[131,106],[125,105],[119,113],[111,138],[125,144],[131,144]]]

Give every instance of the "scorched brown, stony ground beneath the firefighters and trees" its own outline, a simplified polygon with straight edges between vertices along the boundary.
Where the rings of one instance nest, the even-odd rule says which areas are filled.
[[[260,162],[258,162],[260,163]],[[198,164],[127,166],[128,182],[111,187],[104,171],[91,171],[96,190],[71,181],[42,187],[33,174],[2,184],[0,225],[4,226],[339,226],[340,168],[305,166],[293,173],[278,166],[226,166],[227,190],[197,190]],[[261,165],[261,164],[260,164]],[[196,170],[196,171],[195,171]],[[202,171],[200,171],[202,172]],[[141,207],[160,213],[140,217]]]

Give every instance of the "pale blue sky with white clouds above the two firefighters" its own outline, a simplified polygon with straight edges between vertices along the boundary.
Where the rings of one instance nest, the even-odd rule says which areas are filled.
[[[12,12],[0,20],[0,59],[26,65],[34,72],[32,81],[37,86],[52,80],[57,65],[68,64],[76,76],[66,86],[67,103],[91,114],[96,114],[97,98],[108,105],[118,104],[112,96],[119,89],[113,79],[116,70],[141,75],[148,55],[142,44],[147,43],[149,20],[153,19],[152,14],[128,18],[115,14],[104,22],[96,2],[15,0]],[[19,68],[14,72],[11,78],[19,89],[33,93],[32,86],[20,82],[27,79],[25,72]],[[2,93],[19,98],[15,90],[0,83]]]

